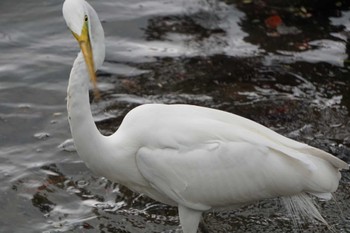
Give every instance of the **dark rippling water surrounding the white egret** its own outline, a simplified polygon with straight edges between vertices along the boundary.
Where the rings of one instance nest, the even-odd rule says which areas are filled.
[[[0,232],[175,232],[177,211],[92,174],[69,143],[65,92],[78,46],[63,1],[0,2]],[[133,107],[190,103],[238,113],[350,163],[350,10],[345,1],[91,1],[103,21],[104,134]],[[279,15],[284,25],[266,24]],[[61,146],[59,146],[61,145]],[[350,232],[350,174],[319,202]],[[341,210],[340,210],[341,209]],[[342,212],[342,214],[341,214]],[[278,201],[208,213],[212,232],[327,232]]]

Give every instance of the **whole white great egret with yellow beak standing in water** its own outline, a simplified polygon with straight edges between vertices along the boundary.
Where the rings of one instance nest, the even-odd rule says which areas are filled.
[[[113,135],[101,135],[88,89],[90,77],[97,90],[103,28],[85,0],[65,0],[63,16],[81,47],[70,73],[67,109],[77,152],[88,168],[177,206],[184,233],[197,232],[202,212],[274,197],[325,222],[308,195],[330,199],[339,170],[349,165],[251,120],[193,105],[146,104],[130,111]]]

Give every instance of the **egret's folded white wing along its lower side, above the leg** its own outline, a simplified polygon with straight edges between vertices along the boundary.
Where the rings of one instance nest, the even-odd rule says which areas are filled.
[[[143,147],[136,163],[159,193],[203,211],[298,193],[305,173],[304,166],[295,164],[294,159],[247,142]]]

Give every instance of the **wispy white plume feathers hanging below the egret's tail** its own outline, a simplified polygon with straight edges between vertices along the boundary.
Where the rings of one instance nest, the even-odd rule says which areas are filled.
[[[292,216],[295,225],[299,226],[302,220],[319,221],[332,231],[327,221],[318,211],[316,203],[308,194],[301,193],[294,196],[282,197],[281,199],[287,211]]]

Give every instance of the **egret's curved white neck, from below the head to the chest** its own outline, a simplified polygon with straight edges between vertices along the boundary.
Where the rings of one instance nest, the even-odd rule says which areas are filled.
[[[103,136],[96,127],[89,102],[89,75],[81,53],[74,61],[67,91],[67,110],[74,145],[80,158],[96,174],[122,184],[144,180],[135,169],[133,147],[127,148],[123,135]]]

